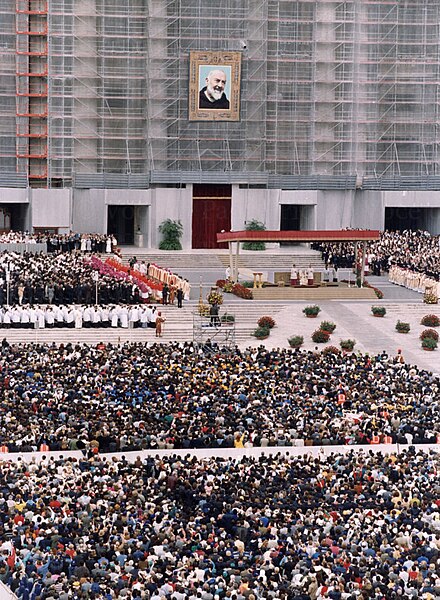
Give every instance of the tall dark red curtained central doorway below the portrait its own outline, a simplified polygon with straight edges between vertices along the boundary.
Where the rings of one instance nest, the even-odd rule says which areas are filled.
[[[193,186],[192,247],[227,248],[217,244],[217,233],[231,230],[230,185]]]

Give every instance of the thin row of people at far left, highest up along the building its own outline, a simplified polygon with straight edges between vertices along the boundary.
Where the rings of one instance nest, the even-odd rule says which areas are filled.
[[[99,233],[29,233],[7,231],[0,233],[0,244],[46,244],[48,252],[114,252],[117,240],[113,235]]]

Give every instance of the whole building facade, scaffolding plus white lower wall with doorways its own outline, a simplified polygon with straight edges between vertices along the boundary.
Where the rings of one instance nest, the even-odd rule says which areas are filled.
[[[252,219],[440,232],[437,0],[0,0],[0,14],[13,228],[140,231],[151,247],[165,218],[186,247]],[[237,120],[191,118],[203,52],[239,57]]]

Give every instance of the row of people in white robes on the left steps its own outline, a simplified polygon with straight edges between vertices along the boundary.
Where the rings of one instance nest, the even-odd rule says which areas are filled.
[[[0,307],[2,329],[52,327],[156,328],[160,311],[147,304],[33,304]]]

